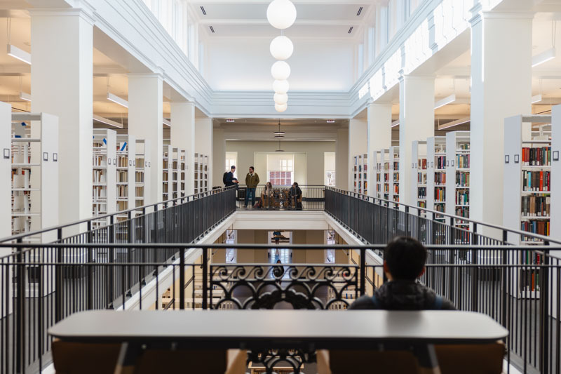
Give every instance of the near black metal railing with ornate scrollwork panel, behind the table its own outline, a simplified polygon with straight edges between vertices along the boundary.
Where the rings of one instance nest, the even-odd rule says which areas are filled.
[[[217,262],[227,248],[266,258],[262,251],[278,248],[269,245],[4,243],[0,248],[17,251],[0,258],[0,371],[39,371],[50,362],[46,329],[83,310],[343,310],[386,281],[377,255],[383,246],[283,247],[295,253],[293,259],[309,258],[297,251],[335,251],[336,262]],[[458,309],[485,313],[508,328],[506,359],[524,373],[558,373],[560,246],[427,248],[421,283],[450,298]],[[84,249],[107,251],[114,262],[58,258],[60,251]],[[129,250],[150,260],[135,262]],[[166,258],[169,253],[173,256]],[[147,272],[150,276],[143,277]],[[132,287],[128,274],[134,274]]]

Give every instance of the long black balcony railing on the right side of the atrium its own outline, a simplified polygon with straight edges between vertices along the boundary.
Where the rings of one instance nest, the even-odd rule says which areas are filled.
[[[509,229],[396,201],[325,187],[325,213],[365,243],[387,243],[410,236],[426,245],[505,245],[556,243],[548,236]]]

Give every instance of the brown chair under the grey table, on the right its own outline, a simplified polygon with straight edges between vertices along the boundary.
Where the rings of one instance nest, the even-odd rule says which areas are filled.
[[[500,374],[505,345],[435,345],[442,374]],[[318,351],[318,374],[419,373],[417,359],[409,351]]]

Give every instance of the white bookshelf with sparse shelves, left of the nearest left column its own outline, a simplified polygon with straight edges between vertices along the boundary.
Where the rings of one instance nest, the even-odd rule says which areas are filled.
[[[11,114],[12,234],[58,225],[58,117]],[[6,150],[3,151],[6,156]],[[8,154],[9,157],[9,154]],[[56,233],[27,237],[53,241]]]

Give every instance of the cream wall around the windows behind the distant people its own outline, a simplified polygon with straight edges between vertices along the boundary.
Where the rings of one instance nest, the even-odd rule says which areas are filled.
[[[325,175],[323,157],[325,152],[335,152],[335,142],[281,142],[285,152],[295,153],[295,182],[299,185],[323,185]],[[250,166],[255,166],[261,184],[266,181],[266,152],[275,152],[278,142],[226,142],[227,152],[238,152],[238,178],[243,183]],[[302,166],[302,162],[305,165]],[[305,180],[304,172],[305,170]]]

